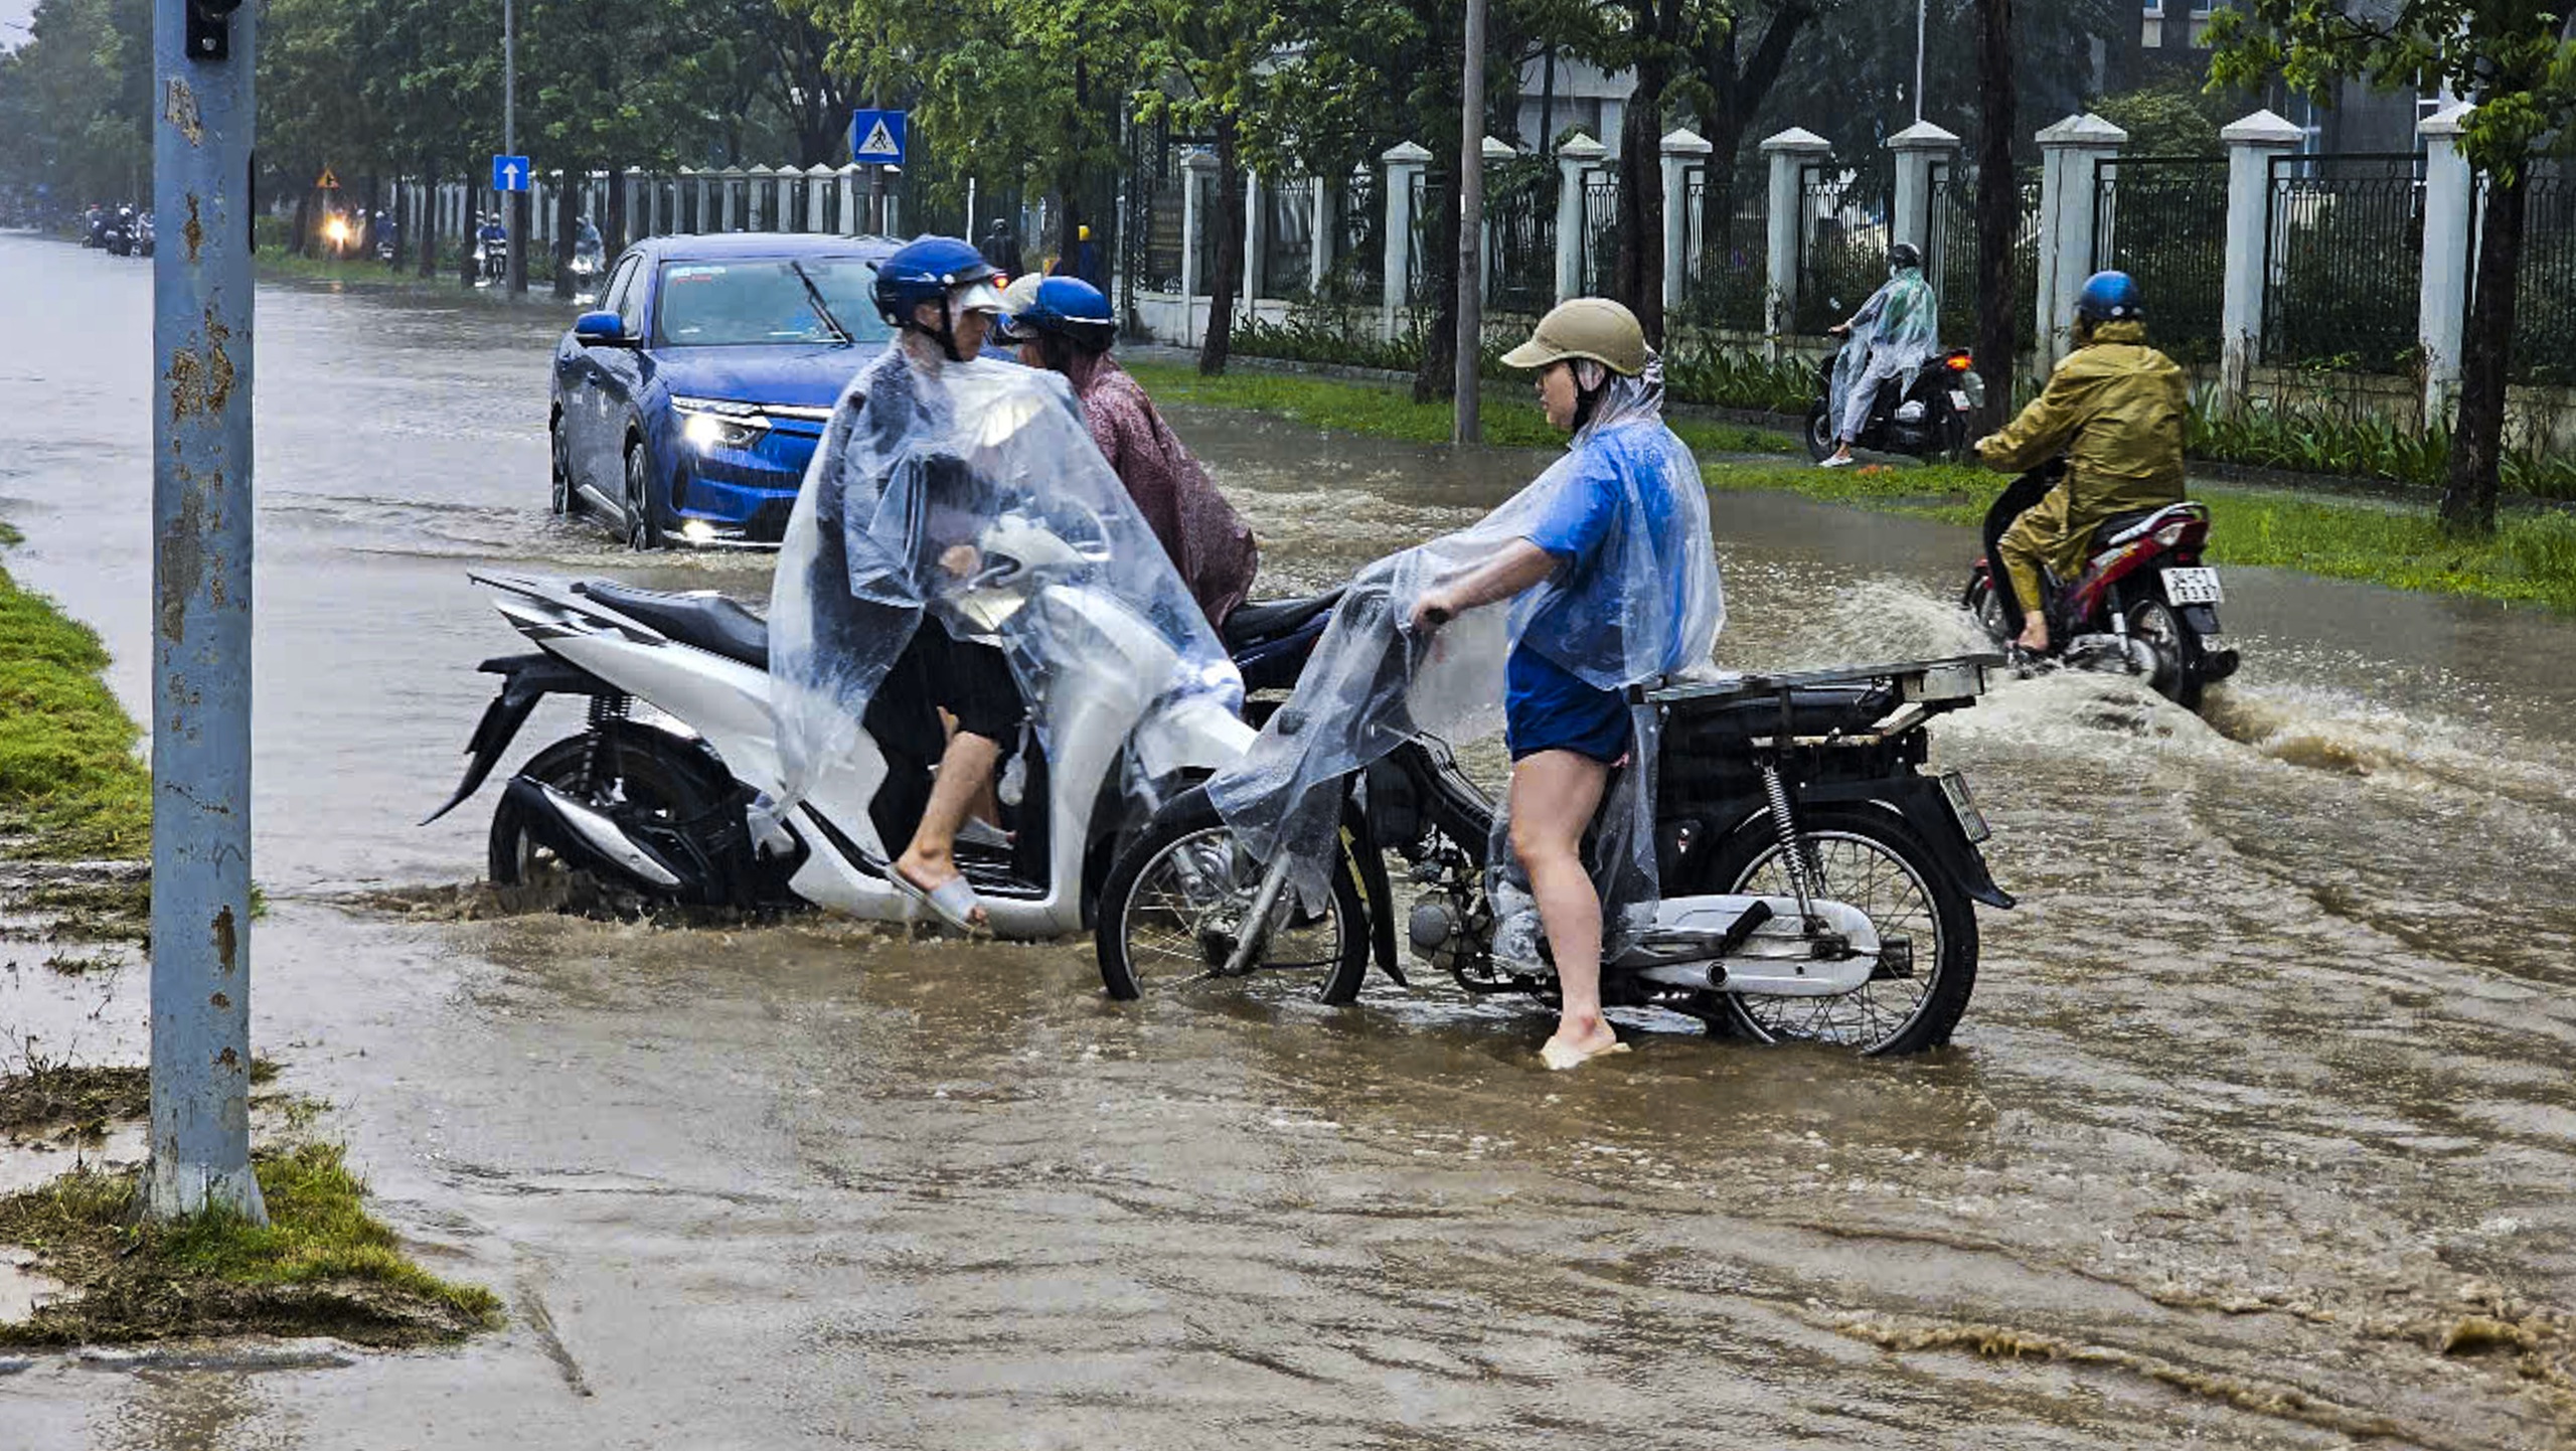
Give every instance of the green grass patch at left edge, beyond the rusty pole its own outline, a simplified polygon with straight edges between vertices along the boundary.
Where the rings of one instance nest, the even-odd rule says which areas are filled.
[[[98,631],[0,570],[0,856],[131,858],[149,848],[152,776],[134,755],[142,732],[98,678],[106,665]]]

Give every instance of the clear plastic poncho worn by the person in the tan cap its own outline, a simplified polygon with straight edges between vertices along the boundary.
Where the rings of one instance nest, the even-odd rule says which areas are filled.
[[[1708,492],[1690,448],[1664,428],[1659,363],[1638,379],[1610,376],[1566,456],[1530,487],[1484,521],[1378,559],[1352,580],[1296,693],[1244,760],[1208,783],[1218,814],[1255,861],[1291,856],[1288,879],[1301,899],[1321,902],[1329,889],[1342,778],[1412,735],[1455,745],[1499,729],[1512,649],[1535,649],[1605,691],[1708,668],[1726,624]],[[1589,557],[1561,562],[1507,603],[1461,613],[1430,639],[1406,629],[1427,590],[1569,508],[1610,510]],[[1566,601],[1584,608],[1551,608]],[[1602,804],[1592,858],[1610,954],[1651,923],[1656,899],[1656,719],[1646,706],[1631,719],[1631,760]],[[1497,920],[1517,912],[1535,928],[1502,814],[1489,848],[1486,892]],[[1504,951],[1502,933],[1497,956],[1528,961]]]

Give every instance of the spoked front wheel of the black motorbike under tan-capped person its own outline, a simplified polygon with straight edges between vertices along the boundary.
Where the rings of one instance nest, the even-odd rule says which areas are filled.
[[[1175,796],[1100,887],[1100,985],[1136,1000],[1146,987],[1216,985],[1242,941],[1265,863],[1234,838],[1206,791]],[[1262,951],[1236,987],[1350,1003],[1368,974],[1368,902],[1350,858],[1334,863],[1327,902],[1291,892],[1270,915]]]

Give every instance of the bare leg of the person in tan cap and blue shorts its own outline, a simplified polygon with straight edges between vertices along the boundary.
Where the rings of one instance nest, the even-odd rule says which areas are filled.
[[[1618,1046],[1602,1021],[1602,899],[1582,858],[1584,827],[1607,783],[1610,768],[1574,750],[1540,750],[1512,765],[1512,853],[1530,874],[1564,992],[1548,1049],[1574,1062]]]

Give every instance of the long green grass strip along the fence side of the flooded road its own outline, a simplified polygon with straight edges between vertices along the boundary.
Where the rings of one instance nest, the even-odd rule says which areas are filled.
[[[1417,405],[1386,384],[1257,371],[1203,379],[1177,363],[1136,363],[1128,371],[1157,399],[1242,407],[1370,438],[1437,443],[1450,428],[1448,405]],[[1484,405],[1484,428],[1489,441],[1507,446],[1564,438],[1535,405],[1497,399]],[[1687,418],[1674,430],[1700,454],[1700,474],[1718,492],[1790,492],[1973,526],[2002,487],[1996,474],[1953,464],[1816,469],[1803,459],[1726,459],[1785,454],[1795,443],[1759,428]],[[2506,510],[2494,539],[2470,541],[2442,533],[2432,500],[2339,500],[2236,485],[2195,485],[2195,495],[2210,505],[2208,554],[2218,564],[2576,611],[2576,515],[2563,510]]]

